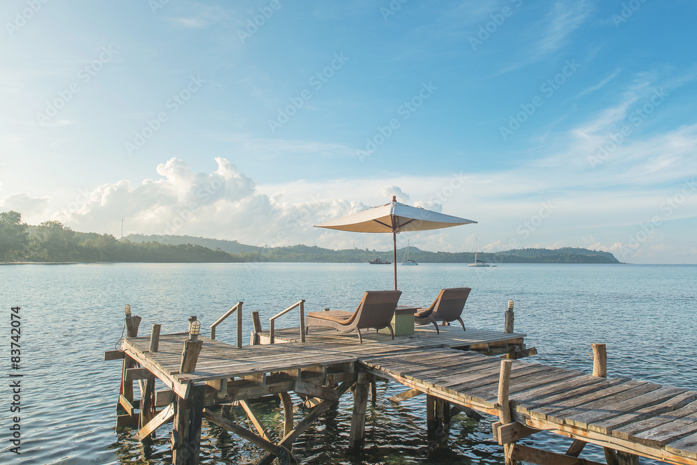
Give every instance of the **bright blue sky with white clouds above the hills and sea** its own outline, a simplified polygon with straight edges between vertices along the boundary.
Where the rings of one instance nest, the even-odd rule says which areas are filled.
[[[100,234],[697,264],[697,3],[6,0],[0,211]]]

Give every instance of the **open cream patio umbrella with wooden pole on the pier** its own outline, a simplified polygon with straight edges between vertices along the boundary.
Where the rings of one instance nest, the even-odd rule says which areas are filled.
[[[346,215],[337,220],[315,224],[314,227],[339,229],[352,232],[392,233],[393,262],[395,264],[395,290],[397,290],[397,233],[402,231],[427,231],[442,229],[460,224],[476,223],[473,220],[443,215],[425,208],[400,204],[392,196],[389,204],[367,208],[364,211]]]

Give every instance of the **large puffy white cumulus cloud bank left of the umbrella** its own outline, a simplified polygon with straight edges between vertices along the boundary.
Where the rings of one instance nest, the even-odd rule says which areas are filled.
[[[366,206],[343,200],[309,196],[286,203],[256,190],[251,178],[225,158],[215,158],[217,169],[194,173],[178,158],[161,163],[162,178],[140,185],[118,181],[89,193],[84,205],[54,215],[80,231],[118,231],[125,234],[190,234],[235,239],[270,246],[300,242],[313,224],[358,211]]]

